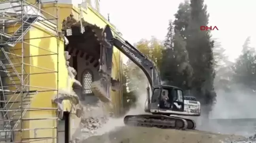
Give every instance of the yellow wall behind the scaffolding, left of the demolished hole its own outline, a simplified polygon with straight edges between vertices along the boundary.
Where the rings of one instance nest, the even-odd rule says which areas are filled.
[[[36,26],[36,25],[35,25]],[[19,26],[15,27],[8,27],[7,32],[13,32],[16,31],[16,29]],[[59,40],[59,38],[52,37],[53,35],[47,33],[44,29],[37,29],[35,27],[32,27],[30,31],[25,35],[24,39],[30,39],[25,40],[23,44],[24,51],[24,84],[29,85],[29,90],[39,90],[42,92],[39,92],[37,95],[32,96],[30,107],[31,108],[44,108],[44,110],[40,111],[27,111],[26,114],[23,116],[23,118],[30,118],[30,119],[38,119],[38,120],[29,120],[29,121],[23,121],[22,128],[25,129],[22,132],[22,138],[45,138],[45,137],[56,137],[56,110],[45,110],[46,108],[56,108],[54,104],[52,104],[51,99],[53,95],[56,94],[58,86],[59,88],[66,87],[67,81],[63,81],[67,77],[67,70],[65,67],[65,60],[64,60],[64,46],[63,41]],[[40,38],[41,37],[41,38]],[[49,37],[49,38],[42,38],[42,37]],[[58,44],[59,46],[58,46]],[[17,55],[22,55],[21,50],[22,44],[16,44],[15,47],[11,48],[11,53],[15,53]],[[38,48],[39,47],[39,48]],[[58,47],[58,48],[57,48]],[[43,49],[46,50],[43,50]],[[13,50],[15,49],[15,50]],[[59,51],[58,51],[59,50]],[[59,53],[59,55],[50,55],[53,54],[52,52]],[[44,55],[44,56],[39,56]],[[30,56],[30,57],[29,57]],[[10,59],[12,59],[15,56],[9,56]],[[57,69],[57,57],[59,57],[59,69]],[[12,59],[12,63],[20,63],[21,58],[18,60]],[[15,65],[20,66],[20,65]],[[40,68],[38,68],[40,67]],[[49,70],[45,70],[42,68],[47,68]],[[21,73],[21,68],[16,68],[17,72]],[[57,73],[57,70],[61,71]],[[10,72],[13,72],[13,70],[10,70]],[[48,73],[47,73],[48,72]],[[51,72],[51,73],[49,73]],[[26,74],[29,74],[29,76],[26,76]],[[59,78],[57,79],[57,75],[59,75]],[[17,78],[13,78],[16,80]],[[57,80],[59,82],[57,83]],[[8,82],[10,83],[10,81]],[[15,83],[20,84],[20,81],[16,81]],[[58,85],[59,84],[59,85]],[[14,88],[9,88],[10,90],[14,90]],[[43,92],[46,90],[51,90],[49,92]],[[12,95],[9,97],[12,97],[10,101],[21,101],[21,95],[16,98],[18,94]],[[9,99],[8,99],[9,100]],[[23,99],[28,100],[28,99]],[[19,106],[19,103],[13,106],[9,106],[9,108],[17,107]],[[30,109],[33,110],[33,109]],[[20,114],[19,114],[20,115]],[[16,118],[20,116],[15,116]],[[39,120],[39,118],[48,118],[47,120]],[[20,129],[21,125],[19,125],[16,129]],[[51,128],[51,129],[40,129],[40,128]],[[35,129],[35,130],[28,130],[28,129]],[[15,132],[15,141],[20,141],[21,136],[19,132]],[[49,139],[49,143],[53,142],[54,139]],[[38,141],[38,142],[44,142],[44,141]]]

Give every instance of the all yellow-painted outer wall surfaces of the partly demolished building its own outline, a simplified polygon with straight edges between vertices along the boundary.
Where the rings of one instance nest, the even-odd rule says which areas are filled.
[[[52,15],[56,14],[56,7],[53,6],[53,4],[45,4],[42,6],[42,9],[51,13]],[[75,15],[75,18],[78,18],[78,9],[76,7],[73,7],[72,5],[67,4],[59,4],[58,7],[58,13],[59,13],[59,19],[58,19],[58,30],[61,29],[61,22],[64,18],[66,18],[70,13],[72,12]],[[47,16],[46,13],[44,15],[48,18],[52,18],[51,16]],[[111,28],[113,29],[113,34],[115,35],[115,27],[111,25],[103,16],[101,16],[98,12],[96,12],[94,9],[92,9],[90,6],[87,7],[87,10],[83,9],[83,17],[84,19],[91,23],[96,24],[97,26],[104,28],[106,24],[109,24]],[[35,24],[36,26],[36,24]],[[36,26],[40,27],[40,26]],[[30,74],[28,77],[29,79],[29,85],[31,86],[30,90],[50,90],[50,89],[60,89],[60,88],[66,88],[68,85],[68,82],[66,81],[68,77],[68,71],[66,70],[66,64],[64,59],[64,43],[63,40],[59,40],[59,38],[56,37],[50,37],[53,36],[47,30],[40,27],[40,29],[32,27],[30,31],[26,34],[25,38],[30,39],[26,40],[28,44],[24,44],[24,55],[26,56],[32,56],[30,58],[26,57],[24,58],[24,62],[26,64],[30,64],[31,66],[25,66],[26,73]],[[9,27],[8,32],[15,31],[17,27]],[[40,38],[42,37],[42,38]],[[43,38],[48,37],[48,38]],[[57,55],[49,55],[53,54],[52,52],[40,49],[40,48],[52,51],[57,53]],[[58,47],[58,48],[57,48]],[[21,44],[17,44],[13,49],[15,48],[21,48]],[[15,51],[17,54],[21,55],[21,50]],[[38,56],[38,55],[45,55],[45,56]],[[113,52],[113,67],[112,67],[112,77],[113,79],[119,79],[120,76],[120,61],[119,58],[120,51],[117,50],[117,48],[114,48]],[[57,58],[58,57],[58,58]],[[59,62],[59,66],[57,66],[57,61]],[[17,62],[13,60],[12,62]],[[49,70],[41,69],[41,68],[47,68],[52,71],[57,71],[58,67],[58,74],[56,72],[54,73],[46,73],[46,72],[52,72]],[[18,71],[21,71],[19,68],[17,68]],[[43,74],[37,74],[37,73],[43,73]],[[58,80],[58,82],[57,82]],[[49,89],[47,89],[49,88]],[[32,108],[56,108],[55,104],[52,104],[51,99],[56,94],[54,91],[48,91],[48,92],[40,92],[38,93],[31,101]],[[115,113],[119,113],[120,109],[120,91],[114,92],[111,90],[111,99],[114,104],[114,111]],[[19,99],[20,100],[20,99]],[[68,101],[65,101],[68,102]],[[17,106],[17,105],[16,105]],[[70,108],[70,107],[69,107]],[[68,109],[70,110],[70,109]],[[75,122],[75,126],[77,127],[79,125],[80,119],[76,118],[74,116],[74,113],[72,113],[72,121]],[[56,117],[55,110],[40,110],[40,111],[27,111],[27,114],[24,116],[26,118],[51,118],[48,120],[33,120],[33,121],[25,121],[22,125],[23,128],[37,128],[36,130],[27,130],[23,131],[22,138],[44,138],[44,137],[56,137],[56,130],[53,129],[53,127],[56,127],[56,119],[53,119]],[[73,120],[74,119],[74,120]],[[71,123],[73,125],[73,123]],[[52,128],[52,129],[40,129],[40,128]],[[75,131],[75,128],[72,127],[72,132]],[[15,136],[16,141],[19,141],[20,136],[16,134]],[[37,143],[42,142],[45,143],[45,140],[38,141]],[[49,139],[47,143],[53,143],[55,142],[55,139]]]

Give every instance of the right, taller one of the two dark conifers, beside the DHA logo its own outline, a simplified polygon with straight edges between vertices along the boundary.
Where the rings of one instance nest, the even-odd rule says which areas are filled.
[[[191,15],[188,24],[187,46],[189,61],[193,67],[194,96],[203,105],[213,105],[216,100],[213,81],[215,78],[213,47],[210,31],[200,31],[200,26],[208,25],[209,14],[203,0],[190,0]],[[211,110],[211,109],[207,109]]]

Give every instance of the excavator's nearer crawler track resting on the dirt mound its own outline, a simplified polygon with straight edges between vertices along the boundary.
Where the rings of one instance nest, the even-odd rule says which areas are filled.
[[[124,124],[141,127],[174,128],[186,130],[188,123],[180,117],[165,115],[128,115],[124,117]]]

